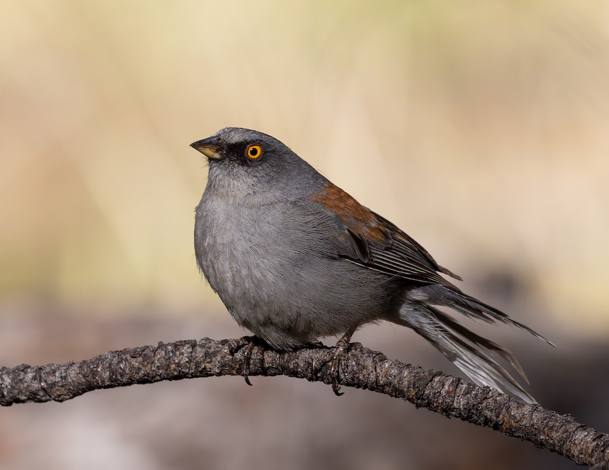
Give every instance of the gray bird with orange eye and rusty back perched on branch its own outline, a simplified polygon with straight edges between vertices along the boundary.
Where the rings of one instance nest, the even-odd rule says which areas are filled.
[[[336,373],[356,329],[387,320],[414,329],[476,384],[535,402],[495,360],[524,376],[512,353],[438,307],[552,343],[463,293],[442,275],[462,279],[396,225],[272,136],[227,127],[191,147],[209,161],[195,216],[197,264],[243,328],[283,351],[342,335]],[[333,389],[339,395],[336,379]]]

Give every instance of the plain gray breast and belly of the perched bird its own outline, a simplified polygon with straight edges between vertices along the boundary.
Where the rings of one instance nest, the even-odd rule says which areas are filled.
[[[293,205],[202,201],[195,251],[209,284],[244,328],[278,349],[343,334],[396,309],[388,276],[334,255],[335,222]]]

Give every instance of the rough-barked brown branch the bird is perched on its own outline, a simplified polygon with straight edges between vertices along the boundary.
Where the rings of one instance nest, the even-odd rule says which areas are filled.
[[[0,405],[66,401],[99,388],[239,375],[242,351],[230,354],[227,343],[228,340],[203,338],[111,351],[81,362],[3,367]],[[250,360],[250,375],[285,375],[329,384],[327,357],[327,348],[277,353],[256,347]],[[571,416],[526,404],[498,390],[476,387],[456,377],[387,359],[359,343],[351,345],[347,359],[341,363],[340,383],[403,398],[417,407],[492,427],[564,455],[579,465],[607,468],[609,435],[579,424]]]

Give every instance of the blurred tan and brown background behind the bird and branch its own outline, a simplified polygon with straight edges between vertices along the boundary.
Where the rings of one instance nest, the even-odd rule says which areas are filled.
[[[481,330],[609,431],[609,2],[0,0],[0,30],[0,365],[242,335],[195,266],[188,144],[248,127],[557,343]],[[406,329],[354,340],[460,375]],[[385,396],[253,382],[2,409],[0,468],[575,468]]]

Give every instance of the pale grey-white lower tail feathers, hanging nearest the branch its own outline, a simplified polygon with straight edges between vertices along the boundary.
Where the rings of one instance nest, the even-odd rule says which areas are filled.
[[[493,356],[498,356],[507,360],[526,379],[523,368],[512,353],[465,328],[441,310],[423,303],[407,303],[402,307],[399,319],[393,321],[414,329],[476,384],[511,393],[529,403],[536,402],[493,359]]]

